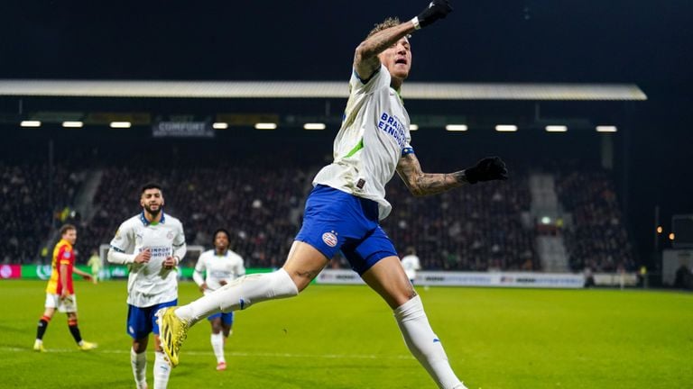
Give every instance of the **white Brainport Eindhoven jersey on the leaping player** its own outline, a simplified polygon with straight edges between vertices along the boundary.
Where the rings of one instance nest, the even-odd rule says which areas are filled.
[[[334,142],[335,160],[313,179],[313,185],[374,200],[380,220],[392,210],[385,200],[385,184],[393,178],[400,158],[413,152],[409,114],[390,80],[383,65],[366,84],[356,71],[352,73],[347,109]]]

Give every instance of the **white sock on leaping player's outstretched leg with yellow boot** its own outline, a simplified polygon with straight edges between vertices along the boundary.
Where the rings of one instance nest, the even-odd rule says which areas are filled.
[[[175,313],[180,319],[195,324],[217,312],[243,310],[253,303],[291,297],[299,294],[296,284],[284,269],[273,273],[253,274],[236,278],[216,291],[200,297]]]

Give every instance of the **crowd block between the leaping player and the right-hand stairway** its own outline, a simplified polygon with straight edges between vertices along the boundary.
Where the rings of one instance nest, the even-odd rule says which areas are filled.
[[[439,270],[536,270],[531,230],[521,213],[530,208],[526,179],[467,185],[429,197],[414,197],[395,178],[387,198],[393,213],[383,228],[398,249],[413,247],[421,265]]]

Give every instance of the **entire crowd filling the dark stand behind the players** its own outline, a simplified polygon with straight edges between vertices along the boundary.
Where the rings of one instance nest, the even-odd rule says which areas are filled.
[[[2,166],[3,263],[41,258],[48,263],[50,253],[42,252],[42,243],[60,222],[78,224],[78,260],[86,261],[88,252],[113,238],[121,222],[140,212],[140,187],[154,181],[163,187],[165,212],[183,222],[189,245],[210,248],[212,232],[226,228],[232,248],[245,258],[246,266],[279,267],[300,228],[303,201],[319,168],[315,161],[310,167],[260,158],[219,162],[185,153],[175,156],[175,167],[169,166],[170,161],[152,164],[144,153],[127,163],[99,158],[106,162],[100,167],[103,176],[93,199],[94,214],[84,220],[70,219],[71,214],[63,211],[74,204],[84,179],[79,169],[59,164],[49,175],[48,167],[38,163]],[[633,269],[633,249],[610,177],[604,172],[572,171],[557,175],[556,187],[560,203],[573,214],[573,226],[565,231],[571,267]],[[416,249],[425,269],[541,270],[534,248],[537,231],[521,222],[531,204],[527,177],[522,174],[429,197],[409,194],[394,177],[387,198],[393,213],[383,221],[384,231],[402,252]],[[337,258],[331,266],[348,264]]]

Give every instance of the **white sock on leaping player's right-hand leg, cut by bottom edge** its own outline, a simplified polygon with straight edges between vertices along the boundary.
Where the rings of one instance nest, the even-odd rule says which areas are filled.
[[[430,328],[429,318],[417,295],[394,310],[404,342],[441,389],[464,388],[448,363],[443,345]]]

